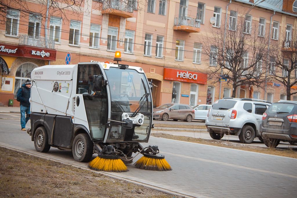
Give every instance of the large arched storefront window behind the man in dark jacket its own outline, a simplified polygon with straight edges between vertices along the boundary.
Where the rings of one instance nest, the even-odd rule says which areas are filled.
[[[37,67],[33,63],[24,63],[19,66],[15,73],[15,90],[14,97],[17,97],[18,89],[25,83],[27,79],[31,79],[32,70]]]

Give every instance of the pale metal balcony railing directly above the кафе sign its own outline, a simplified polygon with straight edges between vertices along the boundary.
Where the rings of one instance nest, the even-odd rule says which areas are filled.
[[[28,35],[20,35],[19,45],[29,45],[33,47],[42,47],[55,49],[55,41],[45,38],[35,38]]]

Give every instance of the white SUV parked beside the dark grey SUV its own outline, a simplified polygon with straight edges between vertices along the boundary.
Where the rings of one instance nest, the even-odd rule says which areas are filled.
[[[209,135],[220,140],[224,134],[236,135],[241,143],[252,143],[259,133],[262,115],[271,102],[251,98],[223,98],[210,108],[205,125]]]

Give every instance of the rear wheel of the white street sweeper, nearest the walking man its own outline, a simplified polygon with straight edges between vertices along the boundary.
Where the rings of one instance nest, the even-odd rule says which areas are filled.
[[[44,126],[40,126],[36,129],[34,134],[34,147],[36,151],[46,153],[50,150],[48,144],[48,133]]]

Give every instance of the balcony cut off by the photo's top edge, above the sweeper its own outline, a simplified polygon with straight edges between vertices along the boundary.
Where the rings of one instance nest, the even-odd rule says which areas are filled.
[[[117,15],[123,18],[131,18],[133,17],[133,5],[129,2],[131,1],[104,1],[102,6],[102,14]]]

